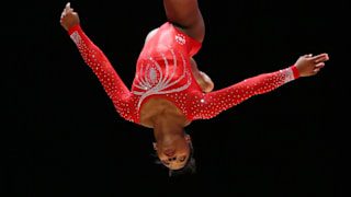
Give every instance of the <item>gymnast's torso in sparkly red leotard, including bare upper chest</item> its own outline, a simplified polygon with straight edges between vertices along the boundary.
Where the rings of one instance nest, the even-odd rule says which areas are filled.
[[[186,126],[192,120],[190,100],[202,94],[190,66],[190,57],[197,53],[201,43],[170,23],[150,34],[132,85],[139,116],[136,121],[152,128],[152,119],[161,115]]]

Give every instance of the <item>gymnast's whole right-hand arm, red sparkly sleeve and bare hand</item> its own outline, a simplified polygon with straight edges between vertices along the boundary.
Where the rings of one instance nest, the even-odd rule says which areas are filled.
[[[194,103],[194,119],[208,119],[223,111],[226,111],[253,95],[270,92],[299,77],[315,76],[329,59],[327,54],[313,57],[305,55],[297,59],[295,65],[275,72],[263,73],[253,78],[246,79],[237,84],[203,94]]]

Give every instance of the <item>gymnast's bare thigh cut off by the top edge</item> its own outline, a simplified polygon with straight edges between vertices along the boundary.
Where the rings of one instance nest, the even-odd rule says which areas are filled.
[[[205,23],[197,0],[163,0],[167,19],[176,28],[197,42],[203,42]]]

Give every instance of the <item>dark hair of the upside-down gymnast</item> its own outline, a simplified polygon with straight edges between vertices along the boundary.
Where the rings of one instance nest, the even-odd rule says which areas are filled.
[[[189,135],[185,130],[184,130],[184,136]],[[157,160],[156,160],[156,164],[161,164],[161,161],[158,159],[158,155],[156,153]],[[194,148],[193,148],[193,143],[192,141],[190,141],[189,143],[189,159],[185,163],[185,165],[182,169],[179,170],[171,170],[169,169],[169,177],[174,177],[174,176],[179,176],[179,175],[183,175],[183,174],[194,174],[196,173],[196,164],[195,164],[195,159],[194,159]]]

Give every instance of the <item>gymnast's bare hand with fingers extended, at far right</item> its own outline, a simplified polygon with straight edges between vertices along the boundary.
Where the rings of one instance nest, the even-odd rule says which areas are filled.
[[[320,54],[314,57],[310,54],[299,57],[295,66],[301,77],[309,77],[317,74],[328,59],[328,54]]]

